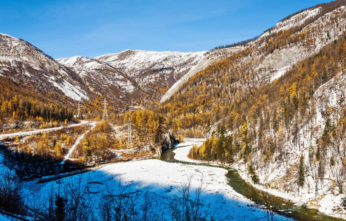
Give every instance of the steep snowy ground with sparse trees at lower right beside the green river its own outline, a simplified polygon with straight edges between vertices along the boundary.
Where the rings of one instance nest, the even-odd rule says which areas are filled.
[[[344,173],[343,168],[345,165],[343,163],[336,163],[334,166],[328,164],[323,168],[324,173],[319,175],[321,168],[319,168],[319,164],[316,164],[317,161],[313,159],[314,150],[316,152],[319,148],[319,136],[324,132],[327,118],[330,118],[333,123],[336,123],[334,122],[337,121],[336,119],[342,118],[342,114],[339,114],[338,111],[332,112],[330,116],[326,113],[329,110],[344,108],[346,90],[343,81],[342,73],[339,73],[327,83],[321,85],[312,95],[310,102],[316,102],[315,108],[311,109],[314,116],[312,121],[303,124],[299,129],[299,140],[297,142],[291,142],[290,140],[283,144],[287,162],[274,162],[267,167],[258,166],[256,174],[260,179],[260,183],[265,183],[268,188],[276,189],[269,189],[269,191],[273,191],[273,194],[304,203],[310,208],[345,219],[346,213],[343,200],[346,199],[346,194],[338,188],[339,182],[343,182],[340,176]],[[287,128],[283,129],[283,134],[289,134]],[[336,162],[339,162],[341,161],[339,159],[345,153],[343,135],[338,134],[337,136],[340,136],[340,143],[333,144],[332,147],[326,150],[328,161],[334,158]],[[257,159],[261,158],[259,157],[261,154],[259,152],[253,153],[254,158]],[[278,155],[276,154],[274,157]],[[306,170],[307,175],[305,185],[298,189],[294,185],[297,183],[297,164],[300,156],[304,157],[303,161],[306,165],[304,170]],[[246,164],[237,163],[233,166],[238,169],[243,179],[251,182],[251,175],[248,173]],[[319,177],[319,179],[316,179],[316,177]],[[297,189],[292,188],[292,186]],[[257,185],[257,187],[261,188],[260,185]]]

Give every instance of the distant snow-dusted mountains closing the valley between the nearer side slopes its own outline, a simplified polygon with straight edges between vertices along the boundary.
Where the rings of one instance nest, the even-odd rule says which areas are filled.
[[[114,98],[124,99],[127,103],[128,100],[135,99],[136,104],[145,105],[167,99],[198,71],[237,50],[125,50],[93,59],[74,56],[56,61],[77,73],[94,93],[106,93]]]

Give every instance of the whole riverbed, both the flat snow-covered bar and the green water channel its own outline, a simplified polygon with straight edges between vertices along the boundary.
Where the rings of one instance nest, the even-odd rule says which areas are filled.
[[[237,173],[225,166],[214,166],[205,163],[196,163],[187,158],[192,143],[202,141],[190,141],[180,144],[180,147],[166,150],[162,155],[148,160],[133,160],[121,163],[109,163],[100,169],[85,172],[79,175],[68,174],[58,181],[58,177],[43,178],[26,182],[22,185],[22,193],[27,200],[34,200],[35,196],[47,199],[52,186],[55,190],[58,186],[66,184],[69,179],[79,180],[82,186],[88,190],[85,194],[90,199],[90,204],[99,205],[100,195],[107,191],[117,190],[117,177],[129,186],[129,192],[137,194],[138,205],[141,205],[146,192],[150,192],[154,212],[162,213],[166,220],[170,220],[167,199],[172,199],[177,194],[177,187],[193,175],[192,187],[198,185],[200,176],[204,174],[208,188],[203,194],[207,202],[207,208],[215,211],[220,217],[216,220],[257,220],[264,211],[256,208],[263,205],[260,192],[250,183],[245,182]],[[175,153],[174,153],[175,152]],[[226,175],[226,176],[225,176]],[[43,181],[43,182],[41,182]],[[342,221],[343,219],[327,216],[318,210],[306,209],[302,205],[294,205],[293,202],[276,197],[281,214],[285,217],[300,221]],[[224,217],[224,218],[222,218]],[[225,219],[228,217],[228,219]],[[222,218],[222,219],[221,219]],[[284,218],[283,220],[288,220]]]

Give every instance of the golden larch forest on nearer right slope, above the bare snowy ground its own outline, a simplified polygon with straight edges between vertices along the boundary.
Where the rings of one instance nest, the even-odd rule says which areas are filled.
[[[240,154],[244,160],[247,160],[251,150],[250,146],[258,142],[258,147],[265,147],[263,152],[265,157],[270,158],[274,150],[280,151],[280,148],[283,147],[284,128],[294,136],[294,140],[297,140],[299,128],[307,122],[311,122],[315,117],[314,110],[316,102],[319,100],[311,100],[311,98],[316,98],[313,96],[316,90],[326,82],[330,82],[330,79],[337,76],[338,73],[342,73],[343,78],[346,61],[345,39],[342,37],[322,49],[319,54],[305,59],[273,83],[251,90],[246,96],[234,100],[234,103],[230,107],[223,108],[223,111],[212,113],[216,115],[216,118],[222,118],[217,129],[220,136],[213,135],[211,140],[207,141],[198,152],[192,151],[191,156],[200,155],[203,160],[220,160],[230,163],[234,162],[232,157]],[[343,80],[340,83],[340,87],[342,87],[340,93],[343,93],[346,85]],[[336,85],[334,86],[336,87]],[[345,112],[343,109],[328,108],[328,103],[324,100],[329,99],[328,95],[319,99],[322,99],[321,105],[326,109],[324,117],[327,119],[327,124],[324,136],[328,136],[328,143],[323,143],[323,145],[321,143],[326,148],[326,145],[340,143],[340,141],[332,142],[330,139],[343,137]],[[297,115],[299,116],[297,117]],[[340,115],[339,119],[336,118],[337,115]],[[258,129],[256,129],[257,126]],[[227,130],[235,129],[237,133],[225,137],[225,127]],[[335,134],[337,131],[338,134]],[[329,137],[331,132],[334,133],[333,137]],[[268,136],[263,137],[267,133],[272,135],[269,138]],[[258,139],[259,141],[256,141]],[[322,137],[320,141],[325,141],[325,139]],[[227,150],[227,148],[231,149]],[[337,150],[339,149],[337,147]],[[339,151],[338,154],[340,154]]]

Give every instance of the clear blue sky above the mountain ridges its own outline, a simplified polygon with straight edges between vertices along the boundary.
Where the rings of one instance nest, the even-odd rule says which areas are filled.
[[[202,51],[252,38],[318,3],[3,0],[0,33],[22,38],[53,58],[93,58],[125,49]]]

